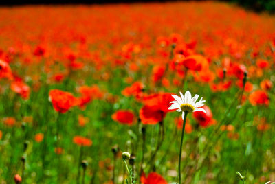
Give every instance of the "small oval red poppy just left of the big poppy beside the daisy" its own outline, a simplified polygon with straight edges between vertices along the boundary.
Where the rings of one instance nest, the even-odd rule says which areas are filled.
[[[131,125],[134,122],[135,115],[132,111],[119,110],[112,115],[112,119],[121,124]]]

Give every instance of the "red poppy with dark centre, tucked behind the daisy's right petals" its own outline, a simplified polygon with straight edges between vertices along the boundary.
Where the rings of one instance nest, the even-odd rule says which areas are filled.
[[[212,115],[212,112],[208,106],[204,105],[201,108],[206,110],[206,113],[201,112],[201,111],[196,111],[193,113],[193,116],[195,117],[197,122],[199,122],[199,124],[201,126],[206,127],[210,124],[213,115]]]

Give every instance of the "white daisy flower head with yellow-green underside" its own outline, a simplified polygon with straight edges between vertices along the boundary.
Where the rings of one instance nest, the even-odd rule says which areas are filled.
[[[181,92],[179,92],[179,94],[181,97],[172,95],[172,97],[175,98],[175,101],[170,102],[172,105],[168,108],[168,110],[177,109],[177,112],[182,112],[182,119],[184,119],[185,113],[192,113],[195,111],[203,111],[206,113],[206,110],[201,108],[201,106],[204,105],[203,103],[206,102],[206,100],[202,100],[202,97],[199,102],[196,102],[199,98],[199,95],[197,94],[194,97],[192,97],[189,91],[186,91],[185,95],[182,95]]]

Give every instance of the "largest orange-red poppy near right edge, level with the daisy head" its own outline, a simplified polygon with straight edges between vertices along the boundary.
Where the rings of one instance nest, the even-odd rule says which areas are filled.
[[[257,90],[252,92],[249,95],[248,100],[250,101],[250,104],[252,104],[253,106],[256,106],[256,105],[268,106],[270,104],[269,96],[265,91],[262,91],[262,90]]]

